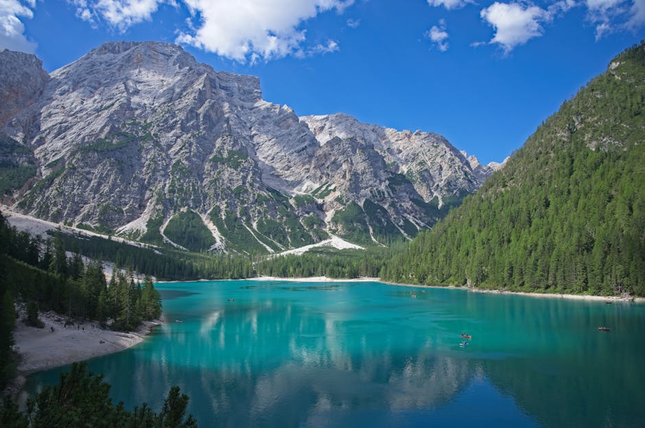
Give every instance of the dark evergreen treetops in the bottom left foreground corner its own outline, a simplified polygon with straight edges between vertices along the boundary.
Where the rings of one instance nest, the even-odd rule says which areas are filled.
[[[145,403],[128,412],[122,402],[113,404],[110,384],[102,375],[88,373],[85,363],[75,363],[69,373],[60,375],[58,385],[45,386],[30,396],[25,410],[5,396],[0,403],[0,427],[197,428],[195,418],[186,416],[188,401],[173,387],[159,413]]]

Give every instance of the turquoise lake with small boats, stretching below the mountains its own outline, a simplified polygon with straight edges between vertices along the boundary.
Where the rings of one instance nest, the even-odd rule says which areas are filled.
[[[645,305],[377,282],[156,287],[165,325],[89,368],[128,407],[159,411],[180,386],[200,428],[645,426]]]

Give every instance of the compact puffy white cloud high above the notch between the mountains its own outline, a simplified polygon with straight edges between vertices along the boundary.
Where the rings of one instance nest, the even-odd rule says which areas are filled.
[[[521,3],[495,2],[484,8],[480,16],[495,28],[495,36],[489,43],[498,43],[504,52],[509,53],[528,40],[541,36],[544,31],[541,23],[551,21],[554,12]]]

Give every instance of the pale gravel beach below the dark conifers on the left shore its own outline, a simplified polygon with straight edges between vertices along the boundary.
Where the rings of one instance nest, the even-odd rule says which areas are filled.
[[[143,321],[136,331],[126,332],[101,329],[94,321],[65,327],[65,316],[52,311],[41,312],[38,318],[45,325],[42,329],[16,320],[12,349],[20,360],[16,377],[5,390],[12,396],[23,392],[32,373],[124,351],[143,342],[154,327],[163,324],[161,319]]]

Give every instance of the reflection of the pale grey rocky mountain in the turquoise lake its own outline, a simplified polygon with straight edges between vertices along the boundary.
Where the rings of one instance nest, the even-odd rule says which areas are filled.
[[[424,347],[401,355],[401,342],[418,340],[412,332],[366,333],[338,314],[301,311],[288,303],[239,305],[182,323],[152,360],[142,364],[132,353],[115,362],[108,371],[135,379],[115,385],[115,394],[152,404],[179,384],[203,427],[327,426],[362,410],[439,407],[479,375],[469,361]]]

